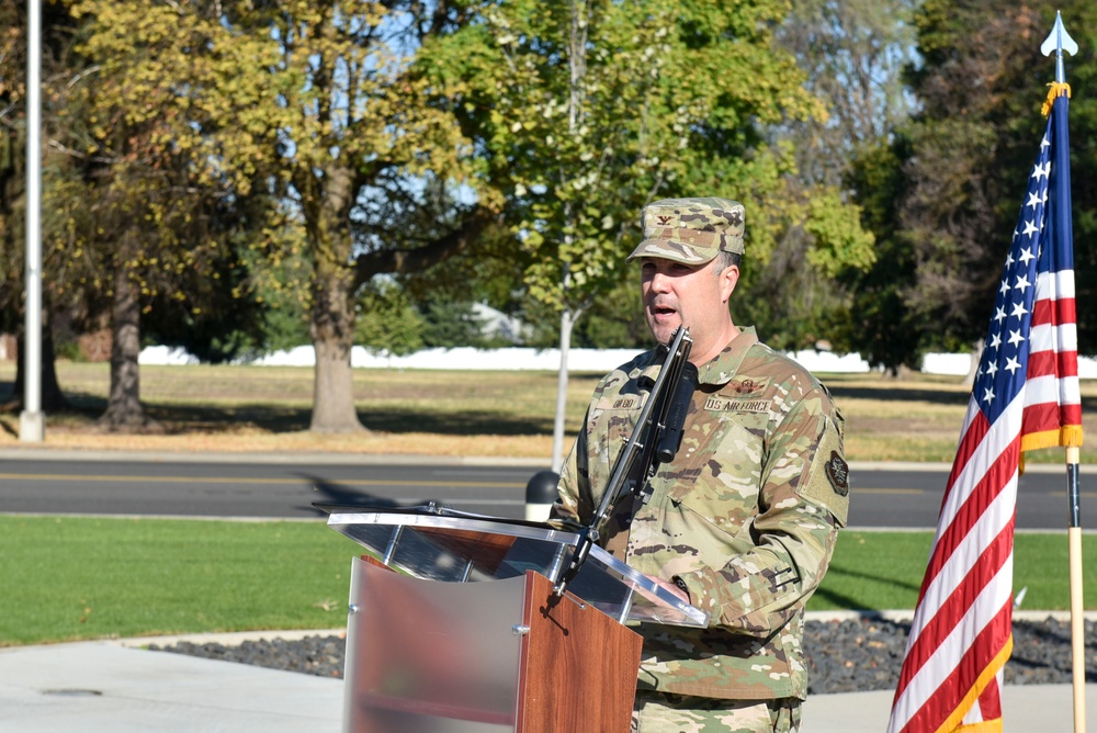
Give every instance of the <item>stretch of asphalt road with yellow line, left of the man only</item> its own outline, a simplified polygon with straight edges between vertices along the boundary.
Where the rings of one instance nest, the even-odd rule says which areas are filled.
[[[136,458],[136,456],[135,456]],[[354,461],[353,458],[344,459]],[[185,517],[321,516],[313,503],[448,506],[519,518],[535,466],[374,464],[270,456],[0,459],[0,512]]]

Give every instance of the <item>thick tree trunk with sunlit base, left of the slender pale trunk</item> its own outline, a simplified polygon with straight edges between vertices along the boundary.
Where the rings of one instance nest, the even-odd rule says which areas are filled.
[[[364,432],[354,409],[350,351],[354,346],[354,308],[347,267],[317,268],[309,335],[316,351],[313,386],[314,432]]]

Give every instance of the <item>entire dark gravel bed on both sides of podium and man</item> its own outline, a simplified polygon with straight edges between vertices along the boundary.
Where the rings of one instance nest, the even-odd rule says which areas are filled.
[[[807,621],[807,652],[813,695],[895,689],[908,622],[878,619]],[[1097,681],[1095,623],[1086,621],[1086,681]],[[225,659],[320,677],[342,677],[346,643],[340,636],[307,636],[245,642],[238,646],[179,642],[150,645],[162,652]],[[1014,621],[1014,652],[1006,664],[1007,685],[1071,683],[1071,627],[1067,621]]]

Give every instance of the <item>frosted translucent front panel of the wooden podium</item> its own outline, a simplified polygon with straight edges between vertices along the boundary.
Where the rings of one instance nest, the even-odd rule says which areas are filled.
[[[348,733],[516,730],[525,582],[423,583],[354,559]]]

